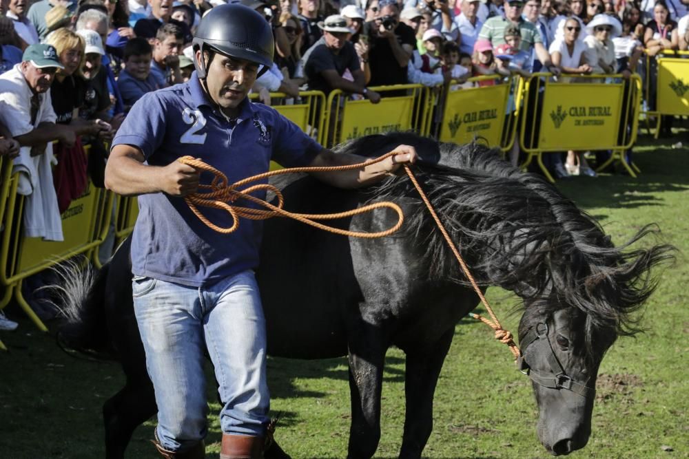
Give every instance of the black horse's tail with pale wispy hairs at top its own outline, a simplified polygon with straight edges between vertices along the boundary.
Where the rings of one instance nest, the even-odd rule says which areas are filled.
[[[59,298],[65,322],[57,338],[64,347],[90,355],[109,353],[110,338],[105,324],[105,284],[110,264],[100,270],[91,264],[63,264],[56,271],[61,285],[52,286]]]

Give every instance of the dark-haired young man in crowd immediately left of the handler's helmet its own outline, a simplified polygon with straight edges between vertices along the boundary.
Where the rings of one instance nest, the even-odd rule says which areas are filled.
[[[160,87],[182,83],[179,55],[184,45],[184,32],[175,24],[163,24],[156,32],[151,60],[151,74]]]

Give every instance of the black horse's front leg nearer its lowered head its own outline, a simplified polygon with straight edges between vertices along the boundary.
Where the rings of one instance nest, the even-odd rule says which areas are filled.
[[[404,395],[407,411],[400,459],[419,459],[433,429],[433,394],[455,333],[450,328],[435,343],[407,350]]]

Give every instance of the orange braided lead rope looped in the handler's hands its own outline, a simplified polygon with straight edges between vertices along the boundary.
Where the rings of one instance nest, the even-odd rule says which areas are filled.
[[[366,167],[369,166],[370,164],[376,164],[376,162],[380,162],[384,160],[385,158],[388,158],[389,156],[393,156],[396,153],[393,153],[392,151],[390,153],[387,153],[383,156],[380,156],[379,158],[373,159],[373,160],[367,160],[365,162],[359,163],[359,164],[350,164],[348,166],[336,166],[336,167],[294,167],[291,169],[280,169],[278,171],[269,171],[265,173],[261,173],[258,175],[254,175],[249,178],[245,178],[243,180],[240,180],[232,185],[229,185],[229,181],[227,180],[227,176],[218,171],[218,169],[215,169],[212,166],[209,166],[209,164],[206,164],[205,162],[201,160],[195,160],[191,156],[183,156],[182,158],[179,158],[178,161],[182,162],[183,164],[188,164],[192,167],[195,167],[196,169],[200,169],[202,171],[208,171],[210,173],[213,173],[215,175],[213,181],[211,182],[210,185],[200,185],[199,188],[201,189],[209,189],[210,191],[207,192],[198,192],[194,193],[192,195],[188,195],[185,197],[185,201],[189,205],[189,208],[192,209],[192,212],[194,212],[194,215],[199,218],[202,222],[207,224],[210,228],[213,228],[215,231],[218,231],[218,233],[223,233],[223,234],[228,234],[232,233],[233,231],[236,231],[236,229],[239,226],[239,217],[244,217],[249,220],[267,220],[268,218],[271,217],[276,217],[278,215],[282,217],[289,217],[289,218],[294,218],[294,220],[298,220],[299,222],[309,224],[311,226],[315,226],[316,228],[320,228],[325,231],[331,231],[332,233],[336,233],[339,235],[343,236],[350,236],[350,237],[362,237],[362,238],[367,238],[367,239],[373,239],[376,237],[384,237],[387,235],[391,235],[392,233],[395,233],[395,231],[398,231],[400,227],[402,226],[402,223],[404,222],[404,214],[402,213],[402,209],[400,209],[400,206],[393,202],[378,202],[376,204],[368,204],[367,206],[362,206],[358,209],[353,209],[351,211],[346,211],[346,212],[340,212],[340,213],[327,213],[327,214],[305,214],[305,213],[292,213],[285,211],[282,209],[282,205],[284,204],[284,198],[282,197],[282,193],[280,192],[279,189],[277,189],[275,186],[270,185],[270,184],[257,184],[254,186],[249,186],[246,189],[243,190],[238,190],[240,186],[243,186],[245,184],[251,183],[251,182],[256,182],[257,180],[262,180],[264,178],[269,178],[273,177],[274,175],[281,175],[285,173],[297,173],[297,172],[330,172],[330,171],[351,171],[353,169],[360,169],[361,167]],[[462,268],[462,271],[464,272],[464,275],[466,276],[467,279],[469,279],[469,282],[471,282],[471,285],[473,286],[476,294],[478,297],[481,299],[481,302],[485,306],[486,310],[491,316],[491,319],[486,319],[485,317],[480,316],[479,314],[475,314],[471,312],[469,315],[473,317],[474,319],[480,320],[486,325],[489,325],[489,327],[493,328],[495,330],[495,339],[499,340],[501,343],[504,343],[509,346],[510,350],[512,351],[512,354],[515,356],[515,359],[520,356],[520,351],[519,348],[517,348],[517,345],[514,342],[513,336],[511,332],[508,332],[507,330],[504,330],[502,328],[502,325],[500,325],[500,321],[497,319],[497,316],[495,316],[495,313],[493,312],[493,308],[488,303],[488,300],[486,300],[486,297],[483,295],[483,292],[479,288],[478,284],[476,283],[476,280],[474,277],[471,275],[471,272],[469,271],[469,267],[466,266],[466,263],[464,262],[464,259],[462,258],[462,255],[460,255],[460,251],[457,249],[457,246],[454,244],[452,241],[449,233],[445,229],[444,225],[440,221],[440,218],[438,217],[438,214],[435,213],[435,210],[433,209],[433,205],[431,204],[431,201],[429,198],[426,196],[426,193],[424,193],[423,189],[421,188],[419,182],[416,180],[414,174],[411,172],[411,169],[409,168],[409,165],[404,164],[404,170],[407,172],[407,175],[409,175],[409,179],[411,182],[414,184],[416,191],[418,191],[419,195],[421,196],[421,199],[423,202],[426,204],[426,207],[429,209],[429,212],[433,216],[433,220],[435,220],[435,224],[438,225],[438,228],[440,229],[440,232],[442,233],[443,237],[445,238],[447,244],[450,246],[452,252],[455,254],[455,258],[457,261],[459,261],[460,266]],[[258,191],[258,190],[266,190],[266,191],[272,191],[275,193],[275,195],[278,198],[278,205],[274,206],[273,204],[270,204],[269,202],[266,202],[264,200],[254,198],[254,196],[249,195],[249,193],[253,191]],[[247,207],[239,207],[239,206],[231,206],[227,204],[227,202],[234,202],[238,198],[243,198],[245,200],[249,200],[251,202],[254,202],[256,204],[259,204],[260,206],[264,206],[265,208],[269,210],[261,210],[261,209],[251,209]],[[212,222],[210,222],[200,211],[198,210],[197,206],[206,206],[206,207],[212,207],[215,209],[223,209],[227,211],[230,215],[232,215],[232,218],[234,220],[234,223],[232,224],[231,227],[229,228],[220,228],[219,226],[216,226]],[[324,224],[320,224],[318,222],[314,222],[313,220],[335,220],[338,218],[343,218],[343,217],[351,217],[352,215],[359,215],[361,213],[366,213],[373,211],[373,209],[379,209],[381,207],[387,207],[388,209],[393,209],[398,214],[398,222],[393,226],[392,228],[389,228],[385,231],[379,231],[378,233],[360,233],[356,231],[347,231],[347,230],[342,230],[340,228],[334,228],[333,226],[327,226]]]

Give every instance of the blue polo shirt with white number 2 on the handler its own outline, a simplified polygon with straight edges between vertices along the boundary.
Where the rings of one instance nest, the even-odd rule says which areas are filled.
[[[187,83],[138,100],[114,138],[113,145],[121,144],[140,149],[152,166],[165,166],[181,156],[200,158],[223,171],[230,184],[267,171],[270,160],[286,167],[306,166],[322,149],[275,109],[248,98],[236,121],[228,121],[209,102],[196,72]],[[211,174],[201,175],[202,184],[211,180]],[[265,194],[252,193],[262,199]],[[258,208],[243,200],[234,204]],[[200,222],[183,198],[140,195],[138,206],[132,235],[134,275],[199,287],[258,266],[263,222],[241,219],[234,233],[223,235]],[[232,226],[228,213],[200,209],[216,225]]]

